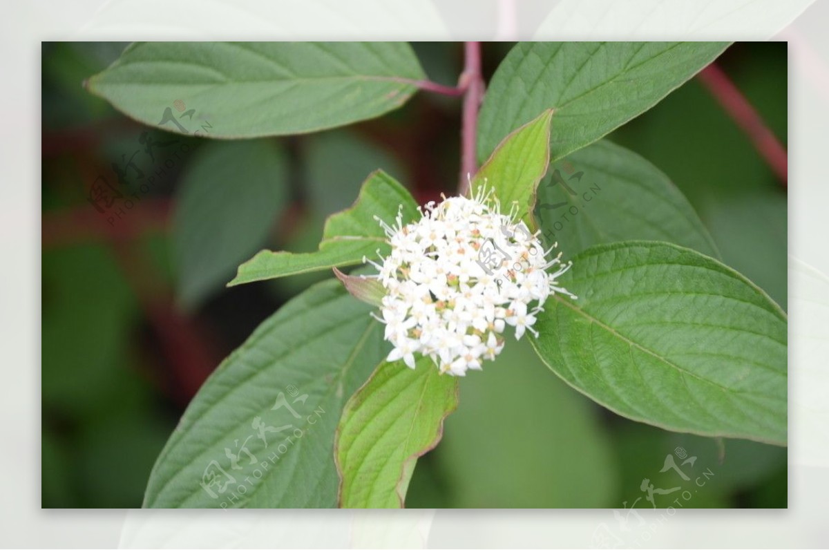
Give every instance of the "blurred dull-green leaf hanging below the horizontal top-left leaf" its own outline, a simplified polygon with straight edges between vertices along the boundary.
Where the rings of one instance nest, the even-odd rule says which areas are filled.
[[[264,140],[208,143],[177,190],[172,241],[177,294],[198,304],[267,241],[285,200],[287,162]]]

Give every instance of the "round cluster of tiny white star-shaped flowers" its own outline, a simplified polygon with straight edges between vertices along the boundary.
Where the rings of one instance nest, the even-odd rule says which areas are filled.
[[[394,344],[389,361],[403,359],[414,368],[414,353],[429,356],[440,372],[464,376],[481,369],[504,347],[505,324],[516,338],[532,325],[547,297],[570,295],[556,277],[570,268],[551,260],[523,221],[503,215],[491,192],[429,202],[419,221],[395,226],[379,220],[391,252],[382,263],[371,262],[386,294],[381,322],[385,339]],[[558,270],[547,269],[558,265]],[[535,302],[533,306],[532,303]]]

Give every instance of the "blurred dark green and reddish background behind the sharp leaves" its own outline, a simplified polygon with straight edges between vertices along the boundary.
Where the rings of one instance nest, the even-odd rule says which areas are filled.
[[[124,46],[42,45],[44,508],[140,506],[158,452],[211,370],[293,295],[331,276],[226,289],[236,265],[262,248],[315,250],[325,217],[348,207],[376,168],[419,202],[458,182],[458,98],[421,92],[381,119],[284,139],[174,136],[82,87]],[[511,46],[483,45],[487,80]],[[414,49],[431,80],[456,84],[459,43]],[[717,65],[785,146],[786,44],[735,44]],[[667,173],[725,263],[786,308],[786,182],[703,80],[609,139]],[[99,212],[90,202],[90,188],[104,184],[124,191],[121,207]],[[485,375],[463,379],[461,403],[441,445],[419,460],[408,506],[787,506],[786,449],[615,416],[561,382],[526,339]]]

